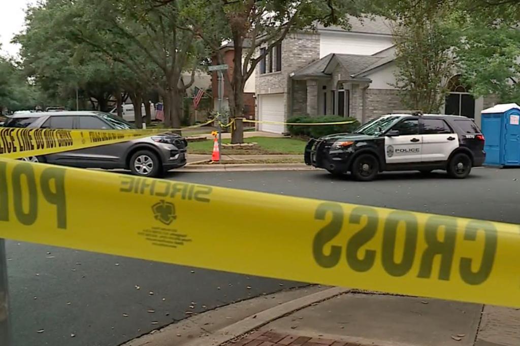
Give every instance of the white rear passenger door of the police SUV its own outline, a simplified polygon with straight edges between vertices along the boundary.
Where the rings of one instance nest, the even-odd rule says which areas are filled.
[[[423,162],[447,161],[459,147],[459,136],[443,119],[421,118],[420,133]]]

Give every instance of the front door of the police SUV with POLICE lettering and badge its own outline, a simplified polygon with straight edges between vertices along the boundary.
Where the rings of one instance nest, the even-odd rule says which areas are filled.
[[[403,119],[392,130],[398,130],[399,136],[385,137],[386,163],[421,162],[422,136],[419,135],[419,119]]]

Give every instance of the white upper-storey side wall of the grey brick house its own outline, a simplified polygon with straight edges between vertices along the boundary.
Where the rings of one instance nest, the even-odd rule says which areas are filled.
[[[320,58],[331,53],[373,55],[392,45],[389,35],[320,31]]]

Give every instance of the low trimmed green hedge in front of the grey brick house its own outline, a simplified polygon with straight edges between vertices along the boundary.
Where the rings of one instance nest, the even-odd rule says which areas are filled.
[[[323,116],[293,116],[288,119],[288,123],[339,123],[354,121],[352,124],[340,125],[288,125],[287,128],[291,136],[306,136],[319,138],[322,136],[338,134],[341,132],[352,132],[359,127],[359,122],[355,118],[345,118],[338,115]]]

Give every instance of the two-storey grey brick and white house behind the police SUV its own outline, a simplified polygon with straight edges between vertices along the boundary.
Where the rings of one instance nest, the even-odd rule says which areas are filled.
[[[287,121],[293,115],[352,116],[364,123],[405,110],[395,81],[392,23],[382,17],[350,18],[352,28],[318,26],[315,32],[289,35],[267,54],[256,71],[257,118]],[[494,99],[474,100],[459,82],[450,81],[448,114],[474,117]],[[260,124],[259,130],[282,133],[283,125]]]

